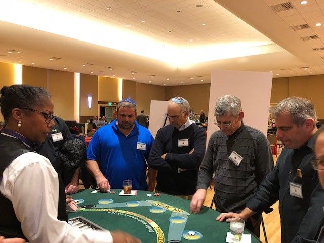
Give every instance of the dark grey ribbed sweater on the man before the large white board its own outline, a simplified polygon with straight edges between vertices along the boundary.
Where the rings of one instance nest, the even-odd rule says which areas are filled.
[[[229,159],[233,151],[243,157],[238,166]],[[270,145],[261,131],[244,124],[229,136],[219,130],[209,140],[197,189],[206,189],[215,172],[217,210],[240,212],[273,167]]]

